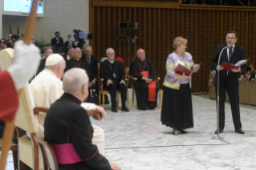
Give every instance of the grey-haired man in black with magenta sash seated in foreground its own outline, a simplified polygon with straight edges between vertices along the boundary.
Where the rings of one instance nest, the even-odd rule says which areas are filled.
[[[73,68],[63,76],[64,94],[47,111],[45,140],[55,151],[59,169],[120,170],[98,152],[91,138],[93,128],[81,103],[88,96],[89,79],[83,69]],[[68,139],[68,140],[67,140]],[[69,150],[69,154],[59,151]],[[73,159],[67,159],[72,157]]]

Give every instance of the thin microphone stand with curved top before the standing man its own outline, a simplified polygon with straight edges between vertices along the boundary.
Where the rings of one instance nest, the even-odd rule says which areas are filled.
[[[228,45],[227,47],[222,48],[221,50],[221,54],[222,52],[226,49],[226,48],[230,48],[230,46]],[[218,57],[218,61],[217,61],[217,67],[219,67],[220,65],[220,59],[221,59],[221,54]],[[212,139],[213,140],[223,140],[224,137],[219,136],[219,116],[220,116],[220,70],[217,69],[217,136],[213,136]]]

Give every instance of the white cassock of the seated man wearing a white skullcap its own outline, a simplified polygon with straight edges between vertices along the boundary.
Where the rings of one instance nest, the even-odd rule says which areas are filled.
[[[50,70],[44,69],[39,73],[35,79],[30,83],[30,91],[35,99],[36,107],[49,108],[52,103],[63,95],[63,82],[57,78],[57,76]],[[82,103],[81,106],[86,110],[95,109],[94,103]],[[36,132],[36,136],[44,140],[44,119],[46,113],[40,112],[39,119],[39,131]],[[100,154],[104,156],[104,130],[101,127],[92,125],[94,129],[92,143],[97,145]]]

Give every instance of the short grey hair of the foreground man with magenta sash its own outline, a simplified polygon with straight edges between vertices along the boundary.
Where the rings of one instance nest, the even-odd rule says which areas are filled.
[[[63,75],[63,91],[77,93],[81,91],[83,84],[89,82],[87,73],[81,68],[72,68]]]

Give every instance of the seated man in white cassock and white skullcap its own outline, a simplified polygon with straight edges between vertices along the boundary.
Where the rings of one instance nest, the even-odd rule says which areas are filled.
[[[46,61],[45,69],[39,73],[30,83],[30,91],[35,99],[36,107],[49,108],[55,100],[63,95],[63,72],[66,67],[66,62],[61,55],[50,55]],[[106,113],[103,107],[96,106],[94,103],[82,103],[82,107],[86,110],[98,110]],[[39,131],[36,136],[44,140],[44,119],[46,114],[41,112],[38,115]],[[101,127],[92,126],[94,128],[92,143],[99,148],[100,154],[104,156],[104,130]]]

